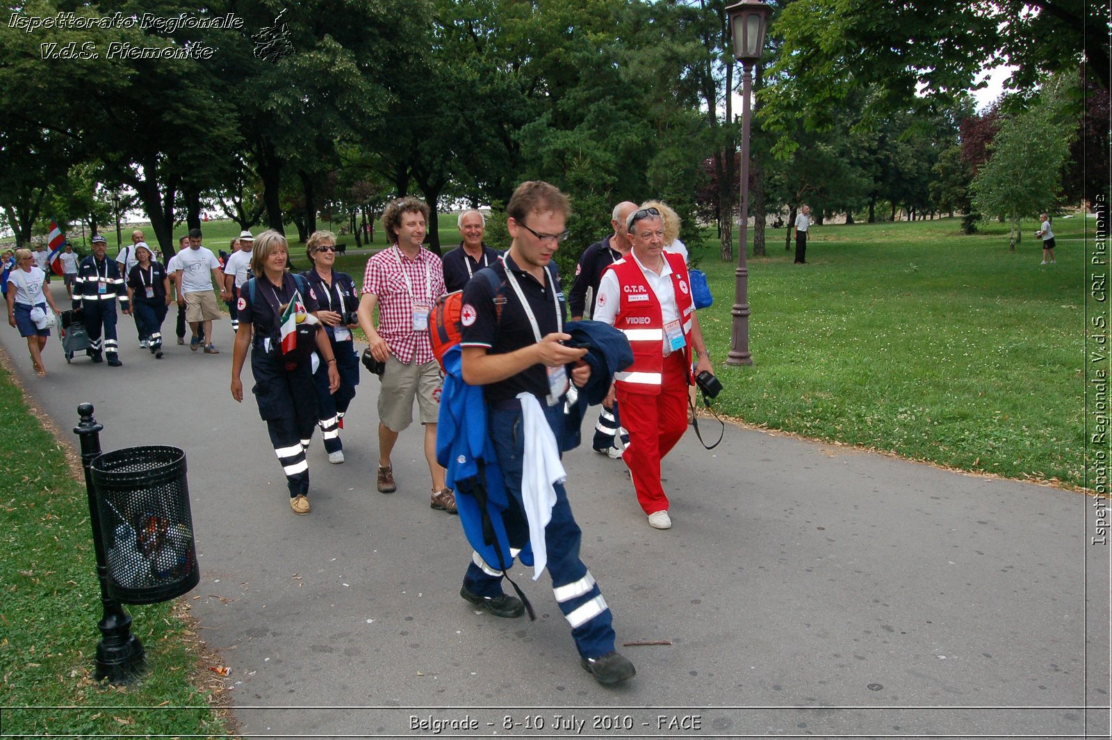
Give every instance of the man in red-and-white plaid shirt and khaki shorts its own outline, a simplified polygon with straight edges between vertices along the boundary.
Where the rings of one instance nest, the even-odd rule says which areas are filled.
[[[386,363],[378,393],[378,490],[397,491],[390,452],[398,434],[413,423],[416,398],[433,476],[429,506],[455,514],[455,494],[445,486],[444,468],[436,462],[441,378],[428,336],[428,314],[445,287],[440,258],[421,247],[428,215],[428,206],[410,197],[398,198],[383,211],[390,247],[367,262],[358,316],[370,354]]]

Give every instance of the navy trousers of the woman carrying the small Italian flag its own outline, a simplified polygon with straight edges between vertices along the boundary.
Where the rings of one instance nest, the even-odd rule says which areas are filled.
[[[289,497],[308,495],[309,463],[305,451],[317,426],[317,394],[312,389],[309,359],[287,371],[279,351],[268,353],[256,344],[251,351],[251,374],[255,376],[251,393],[286,474]]]

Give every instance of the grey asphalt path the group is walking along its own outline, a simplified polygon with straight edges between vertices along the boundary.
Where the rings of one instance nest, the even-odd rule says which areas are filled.
[[[1109,734],[1109,551],[1082,494],[727,426],[713,452],[687,434],[666,458],[662,532],[620,461],[573,451],[618,641],[667,643],[619,648],[637,675],[605,689],[547,575],[514,571],[536,622],[459,598],[470,550],[428,506],[419,426],[397,493],[375,490],[376,378],[345,420],[347,462],[315,436],[296,516],[250,394],[231,399],[229,322],[219,355],[163,330],[157,361],[121,316],[119,368],[67,364],[52,337],[47,378],[14,329],[0,344],[60,428],[91,402],[103,450],[186,451],[201,582],[183,599],[231,668],[245,737]]]

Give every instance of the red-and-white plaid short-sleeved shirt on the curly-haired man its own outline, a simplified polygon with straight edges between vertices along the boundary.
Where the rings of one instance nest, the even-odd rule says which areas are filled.
[[[400,262],[399,262],[400,259]],[[409,278],[408,285],[406,277]],[[413,287],[413,298],[409,287]],[[421,247],[416,259],[406,257],[397,246],[384,249],[367,260],[363,275],[363,293],[378,299],[378,329],[390,354],[400,362],[424,364],[433,359],[433,343],[428,329],[415,332],[415,304],[433,310],[436,299],[445,294],[444,267],[440,258]]]

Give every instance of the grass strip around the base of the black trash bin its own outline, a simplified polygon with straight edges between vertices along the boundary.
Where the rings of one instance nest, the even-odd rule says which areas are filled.
[[[205,688],[215,674],[171,604],[127,608],[147,652],[142,678],[92,680],[101,606],[85,483],[22,398],[0,367],[0,733],[225,737]]]

